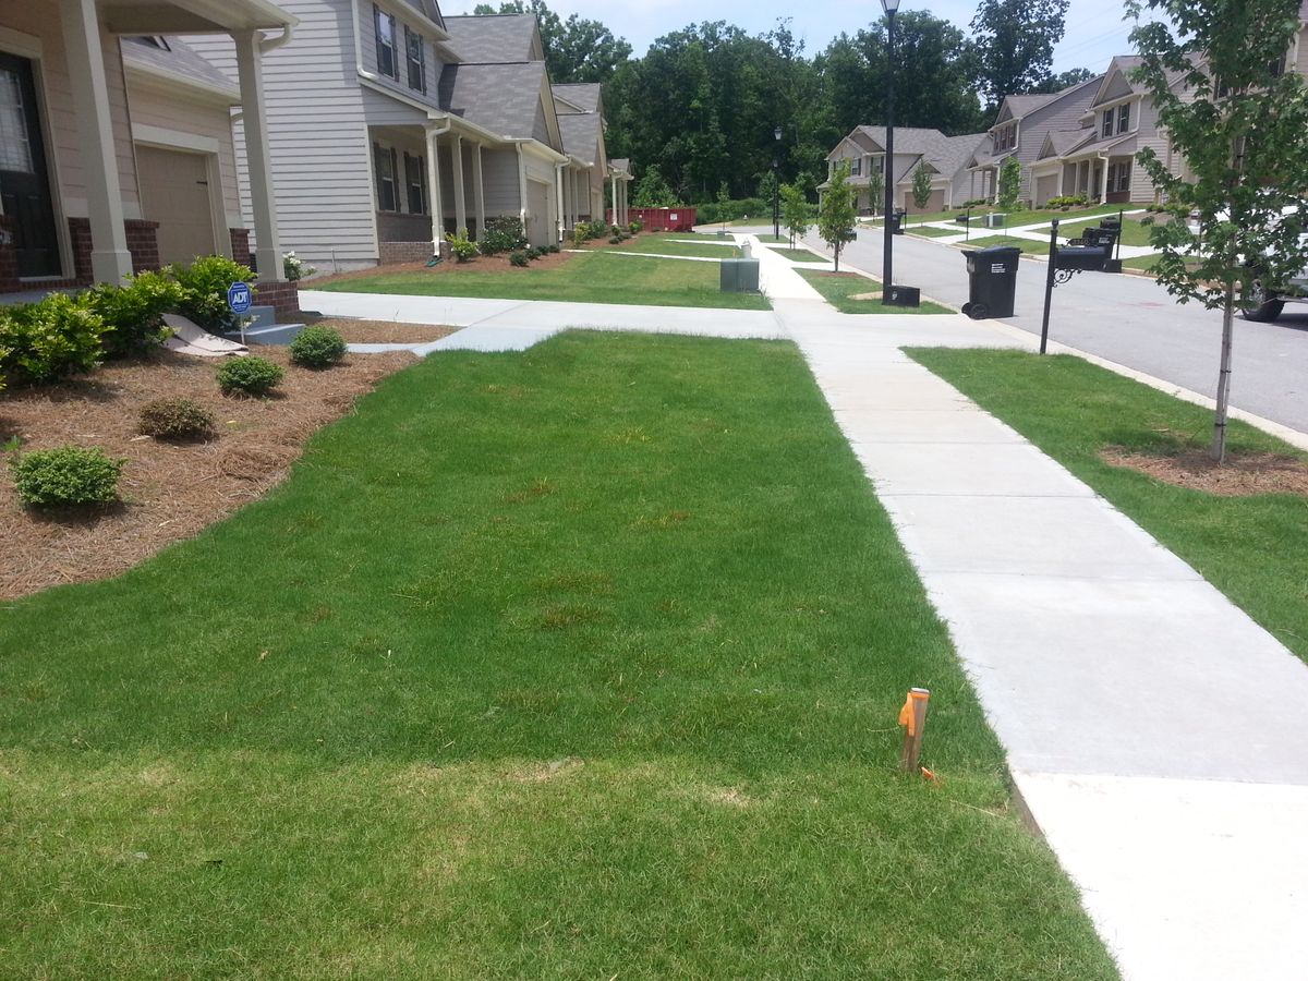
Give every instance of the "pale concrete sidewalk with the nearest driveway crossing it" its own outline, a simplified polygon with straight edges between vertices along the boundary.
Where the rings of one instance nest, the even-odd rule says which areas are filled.
[[[794,339],[950,625],[1020,804],[1124,978],[1308,976],[1308,667],[903,353],[1029,349],[1029,336],[963,317],[846,317],[787,260],[756,255],[774,313],[340,293],[305,302],[413,322],[456,309],[472,324],[460,335],[500,345],[485,349],[522,349],[564,327]]]

